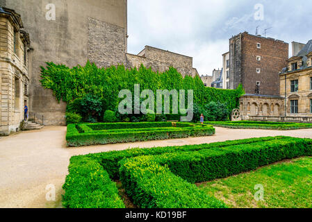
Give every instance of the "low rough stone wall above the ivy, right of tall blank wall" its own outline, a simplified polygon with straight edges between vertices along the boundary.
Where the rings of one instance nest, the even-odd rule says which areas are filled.
[[[166,71],[169,67],[176,68],[183,76],[199,76],[197,69],[193,68],[192,57],[183,56],[171,51],[145,46],[138,55],[126,53],[126,67],[140,67],[143,64],[153,71]]]

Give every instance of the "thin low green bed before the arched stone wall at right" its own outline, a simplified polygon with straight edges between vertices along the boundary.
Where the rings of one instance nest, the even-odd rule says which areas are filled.
[[[297,130],[312,128],[312,123],[281,123],[266,121],[208,121],[204,123],[213,126],[240,129]]]

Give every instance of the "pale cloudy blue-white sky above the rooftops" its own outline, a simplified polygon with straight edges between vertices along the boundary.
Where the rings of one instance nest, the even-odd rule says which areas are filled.
[[[308,42],[311,9],[311,0],[128,0],[128,52],[146,45],[174,51],[192,56],[200,75],[211,74],[222,67],[229,38],[254,35],[257,26],[261,35],[270,28],[267,37]]]

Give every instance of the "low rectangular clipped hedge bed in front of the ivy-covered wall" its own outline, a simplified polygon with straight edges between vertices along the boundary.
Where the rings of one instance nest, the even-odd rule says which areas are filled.
[[[128,130],[126,130],[128,129]],[[197,123],[101,123],[67,126],[68,146],[115,144],[157,139],[200,137],[215,134],[215,128]]]

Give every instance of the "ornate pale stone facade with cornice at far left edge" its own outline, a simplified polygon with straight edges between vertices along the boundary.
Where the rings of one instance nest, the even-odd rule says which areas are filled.
[[[20,129],[28,105],[29,35],[21,17],[0,8],[0,135]]]

